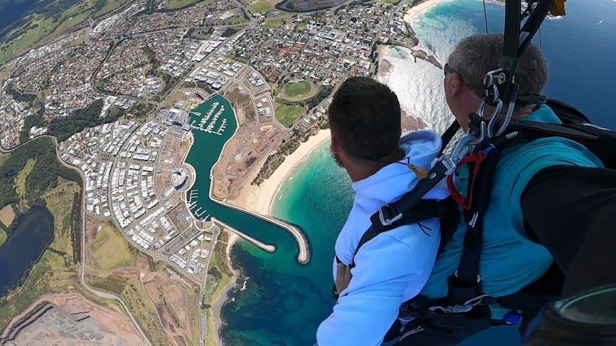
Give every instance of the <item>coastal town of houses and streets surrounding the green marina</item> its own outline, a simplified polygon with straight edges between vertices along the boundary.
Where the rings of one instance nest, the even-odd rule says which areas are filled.
[[[208,295],[226,295],[212,267],[228,261],[216,258],[218,250],[224,254],[227,246],[228,256],[237,237],[274,250],[206,204],[266,214],[242,202],[242,194],[325,127],[337,85],[376,75],[381,46],[430,57],[415,47],[406,0],[349,1],[304,13],[263,8],[263,1],[185,1],[174,8],[177,2],[123,1],[12,60],[0,90],[0,146],[55,137],[57,156],[83,179],[84,224],[98,225],[84,236],[82,280],[105,271],[92,244],[109,227],[123,246],[149,258],[150,269],[198,287],[196,338],[176,343],[205,345],[220,342],[212,335],[220,321],[203,312]],[[207,172],[187,163],[198,136],[225,141]],[[196,189],[207,176],[210,190]],[[270,221],[294,235],[296,261],[307,263],[305,235]],[[168,329],[166,336],[176,337]]]

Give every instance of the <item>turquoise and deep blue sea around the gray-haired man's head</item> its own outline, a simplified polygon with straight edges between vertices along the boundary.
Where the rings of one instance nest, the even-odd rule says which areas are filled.
[[[504,5],[486,3],[488,29],[504,29]],[[567,1],[567,15],[546,19],[535,44],[548,60],[546,96],[585,112],[593,122],[616,130],[613,56],[616,53],[616,1]],[[424,12],[413,23],[420,45],[441,62],[461,38],[485,32],[483,3],[455,0]]]

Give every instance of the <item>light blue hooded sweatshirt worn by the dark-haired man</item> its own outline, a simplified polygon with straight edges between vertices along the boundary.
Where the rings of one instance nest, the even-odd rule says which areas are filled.
[[[400,139],[410,162],[428,170],[441,144],[434,131],[417,131]],[[340,261],[346,265],[352,261],[359,239],[370,227],[370,216],[399,200],[418,181],[406,164],[392,163],[353,183],[355,202],[335,245]],[[448,195],[447,188],[439,185],[424,198],[441,200]],[[410,224],[383,232],[361,247],[350,284],[318,328],[318,345],[381,345],[400,304],[420,292],[432,271],[440,241],[439,219],[427,219],[422,225],[427,235],[417,224]],[[334,261],[334,278],[336,271]]]

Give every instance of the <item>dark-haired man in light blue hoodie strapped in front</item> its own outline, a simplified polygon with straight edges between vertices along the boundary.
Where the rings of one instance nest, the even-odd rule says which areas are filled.
[[[355,252],[370,216],[415,187],[441,150],[441,138],[434,131],[400,138],[396,94],[367,77],[342,83],[329,106],[329,125],[331,152],[350,176],[355,200],[335,244],[339,263],[333,263],[333,276],[339,297],[318,328],[318,345],[381,345],[400,304],[415,297],[428,280],[439,248],[439,219],[381,233]],[[447,196],[441,186],[424,198]]]

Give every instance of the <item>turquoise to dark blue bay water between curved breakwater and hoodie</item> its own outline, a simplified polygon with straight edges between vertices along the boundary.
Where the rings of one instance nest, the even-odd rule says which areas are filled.
[[[314,150],[294,170],[279,197],[272,213],[305,230],[311,262],[296,265],[287,247],[267,254],[248,243],[235,245],[233,263],[248,282],[222,308],[229,323],[222,328],[227,345],[312,345],[318,324],[331,311],[333,243],[350,211],[352,191],[329,145]]]

